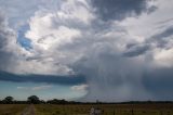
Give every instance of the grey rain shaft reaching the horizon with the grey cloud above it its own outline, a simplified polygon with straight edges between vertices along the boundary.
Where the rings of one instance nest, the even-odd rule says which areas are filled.
[[[104,35],[109,33],[111,28],[108,30],[102,28],[102,30]],[[122,30],[117,33],[127,34]],[[149,66],[148,60],[146,60],[146,56],[144,60],[138,58],[138,55],[144,55],[147,51],[152,50],[151,42],[144,41],[137,44],[135,41],[131,41],[132,43],[124,43],[127,44],[127,49],[124,52],[121,52],[117,48],[120,36],[117,37],[116,33],[111,40],[93,35],[93,31],[91,35],[83,35],[82,39],[77,38],[74,42],[67,43],[61,49],[61,51],[65,50],[66,52],[79,51],[77,55],[81,53],[83,55],[70,65],[75,73],[85,76],[86,82],[90,86],[88,89],[89,93],[80,99],[80,101],[101,100],[112,102],[164,99],[164,95],[157,95],[157,93],[162,92],[167,85],[163,84],[162,89],[159,89],[157,93],[148,90],[148,88],[155,89],[155,87],[150,88],[147,85],[147,81],[150,79],[144,78],[149,73],[145,72]],[[161,76],[163,77],[163,75]],[[152,75],[148,74],[148,77],[152,77]],[[151,82],[152,80],[150,80]],[[154,84],[156,82],[154,81]]]

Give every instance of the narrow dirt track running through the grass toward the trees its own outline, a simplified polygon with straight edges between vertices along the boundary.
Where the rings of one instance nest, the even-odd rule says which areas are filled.
[[[35,106],[32,104],[27,106],[21,115],[36,115]]]

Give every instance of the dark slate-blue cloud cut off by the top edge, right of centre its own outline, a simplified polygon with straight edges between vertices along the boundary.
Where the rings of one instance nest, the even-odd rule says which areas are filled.
[[[156,8],[148,8],[149,0],[91,0],[96,13],[104,20],[121,21],[127,16],[152,12]]]

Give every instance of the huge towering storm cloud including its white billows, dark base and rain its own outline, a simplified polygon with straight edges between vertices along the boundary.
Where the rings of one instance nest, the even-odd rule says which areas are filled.
[[[130,1],[129,8],[124,5],[125,0],[101,0],[98,3],[67,0],[53,12],[39,9],[28,21],[29,28],[24,34],[31,41],[30,49],[16,44],[21,52],[12,50],[12,55],[6,56],[11,58],[8,69],[1,66],[17,75],[0,78],[8,81],[86,84],[89,91],[81,101],[171,99],[173,86],[168,84],[169,89],[162,91],[168,88],[162,81],[169,82],[172,73],[165,72],[173,68],[173,61],[169,59],[173,58],[172,23],[157,28],[156,22],[170,18],[172,5],[163,0],[155,1],[158,9],[148,14],[147,0]],[[103,8],[106,11],[97,11]],[[129,15],[133,12],[138,15],[137,18]],[[164,12],[164,16],[160,12]],[[103,17],[111,22],[105,22]],[[13,38],[17,39],[15,36]],[[167,42],[159,47],[162,38]],[[158,75],[158,72],[161,74]],[[65,77],[72,75],[77,77]],[[154,80],[158,78],[161,80]],[[167,80],[162,80],[164,78]],[[162,95],[162,92],[167,94]]]

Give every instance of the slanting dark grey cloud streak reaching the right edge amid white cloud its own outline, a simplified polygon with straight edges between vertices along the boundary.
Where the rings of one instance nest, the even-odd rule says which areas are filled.
[[[168,43],[170,43],[172,35],[173,35],[173,27],[169,27],[163,31],[151,36],[141,44],[129,43],[127,44],[127,50],[122,55],[132,58],[145,54],[147,51],[155,49],[155,47],[154,48],[151,47],[151,43],[154,42],[157,44],[158,48],[168,49],[168,47],[170,47],[168,46]]]

